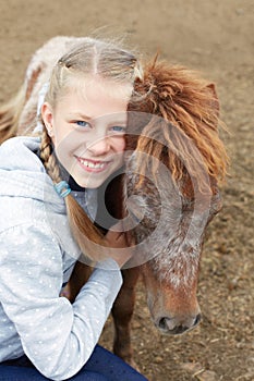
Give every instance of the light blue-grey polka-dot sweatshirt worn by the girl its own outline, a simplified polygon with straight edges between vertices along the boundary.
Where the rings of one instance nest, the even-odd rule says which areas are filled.
[[[26,354],[45,377],[65,380],[92,355],[122,276],[109,259],[73,305],[59,297],[80,250],[38,149],[34,137],[0,146],[0,362]],[[87,208],[83,192],[74,196]]]

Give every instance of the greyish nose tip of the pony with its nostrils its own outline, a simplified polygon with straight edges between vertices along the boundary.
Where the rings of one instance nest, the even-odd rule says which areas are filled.
[[[188,318],[164,317],[156,321],[156,327],[164,334],[181,334],[195,328],[201,321],[201,314]]]

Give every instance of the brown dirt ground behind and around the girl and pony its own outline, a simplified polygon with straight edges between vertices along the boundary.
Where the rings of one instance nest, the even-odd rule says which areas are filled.
[[[201,325],[160,335],[138,286],[135,360],[150,381],[254,380],[253,0],[0,0],[0,102],[22,83],[31,54],[56,35],[128,33],[146,56],[197,69],[217,84],[231,158],[223,209],[208,229],[198,298]],[[102,33],[101,33],[102,30]],[[108,32],[107,32],[108,33]],[[111,324],[101,343],[110,348]]]

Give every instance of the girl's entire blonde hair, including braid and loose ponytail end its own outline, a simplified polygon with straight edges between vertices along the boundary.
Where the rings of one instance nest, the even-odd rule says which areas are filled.
[[[110,41],[87,38],[64,54],[55,65],[45,100],[55,108],[70,86],[70,79],[85,74],[98,75],[122,85],[130,84],[132,87],[136,78],[142,78],[140,63],[132,52]],[[59,183],[61,176],[58,160],[52,152],[51,139],[45,126],[41,134],[40,157],[53,183]],[[93,260],[104,258],[102,233],[92,223],[71,194],[64,199],[70,228],[82,253]],[[98,249],[97,253],[95,247]]]

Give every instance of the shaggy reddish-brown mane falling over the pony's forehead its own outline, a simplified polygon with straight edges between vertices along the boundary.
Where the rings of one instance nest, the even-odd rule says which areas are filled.
[[[136,82],[135,94],[142,100],[133,100],[131,111],[160,116],[152,118],[137,139],[141,179],[147,163],[142,155],[138,160],[138,151],[167,161],[174,181],[184,183],[191,176],[203,190],[207,188],[207,174],[216,182],[225,179],[228,156],[218,135],[222,122],[213,84],[182,66],[154,61],[146,65],[144,79]],[[157,167],[152,169],[155,179]]]

